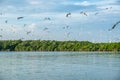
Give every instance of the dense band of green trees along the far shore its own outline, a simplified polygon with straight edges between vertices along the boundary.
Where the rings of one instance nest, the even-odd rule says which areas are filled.
[[[0,51],[120,51],[120,42],[1,40]]]

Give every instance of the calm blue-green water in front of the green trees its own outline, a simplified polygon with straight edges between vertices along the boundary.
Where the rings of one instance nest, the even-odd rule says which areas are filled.
[[[120,80],[120,54],[0,52],[0,80]]]

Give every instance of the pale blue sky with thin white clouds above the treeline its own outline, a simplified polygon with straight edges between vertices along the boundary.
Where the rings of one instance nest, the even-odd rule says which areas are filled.
[[[120,42],[117,21],[120,0],[0,0],[0,40]]]

